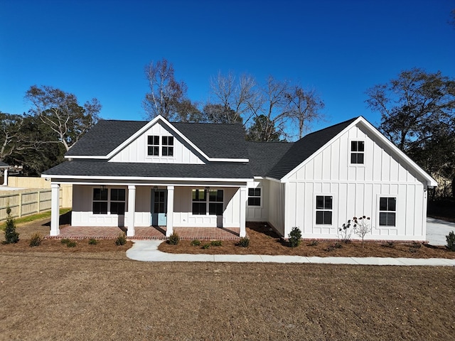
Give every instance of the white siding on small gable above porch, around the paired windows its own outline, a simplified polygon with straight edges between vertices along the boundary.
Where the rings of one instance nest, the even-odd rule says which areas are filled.
[[[143,162],[143,163],[204,163],[195,150],[180,136],[172,134],[161,122],[156,122],[144,134],[134,139],[122,151],[112,156],[109,162]],[[160,136],[160,156],[147,155],[147,137]],[[161,136],[173,136],[173,156],[161,156]]]

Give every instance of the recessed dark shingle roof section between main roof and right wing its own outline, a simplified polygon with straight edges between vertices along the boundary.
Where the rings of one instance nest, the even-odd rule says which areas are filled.
[[[247,141],[253,175],[266,176],[293,143]]]

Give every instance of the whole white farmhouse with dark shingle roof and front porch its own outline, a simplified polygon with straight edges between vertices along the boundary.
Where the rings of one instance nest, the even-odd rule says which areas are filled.
[[[268,222],[287,237],[333,239],[355,215],[365,239],[425,240],[427,188],[437,183],[363,117],[295,143],[245,141],[241,124],[100,121],[43,173],[73,184],[75,226],[240,227]],[[353,236],[354,237],[354,236]]]

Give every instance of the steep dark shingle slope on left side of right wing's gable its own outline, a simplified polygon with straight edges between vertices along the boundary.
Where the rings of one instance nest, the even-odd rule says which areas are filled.
[[[321,148],[328,141],[333,139],[338,133],[345,129],[349,124],[358,119],[355,117],[333,126],[328,126],[326,129],[314,131],[296,141],[291,148],[284,154],[284,156],[277,162],[277,164],[267,173],[267,176],[274,179],[281,179],[287,175],[296,166],[304,162],[319,148]]]

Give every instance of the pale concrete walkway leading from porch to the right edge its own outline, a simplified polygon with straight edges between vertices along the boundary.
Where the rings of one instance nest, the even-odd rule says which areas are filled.
[[[304,257],[269,256],[259,254],[167,254],[158,250],[161,240],[138,240],[127,251],[127,257],[136,261],[215,261],[249,263],[308,263],[351,265],[401,265],[401,266],[455,266],[455,259],[414,259],[379,257]]]

